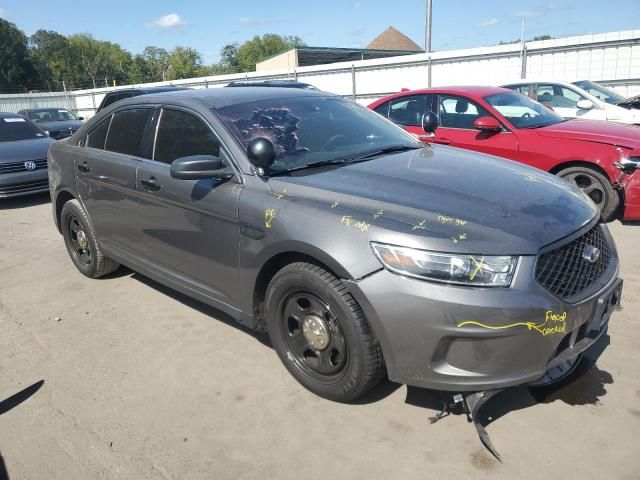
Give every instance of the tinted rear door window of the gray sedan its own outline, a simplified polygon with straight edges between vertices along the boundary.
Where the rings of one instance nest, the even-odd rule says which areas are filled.
[[[132,108],[113,115],[105,150],[141,156],[140,144],[150,108]]]

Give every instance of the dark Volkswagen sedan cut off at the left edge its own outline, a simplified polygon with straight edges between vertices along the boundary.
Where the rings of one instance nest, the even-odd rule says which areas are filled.
[[[0,198],[49,190],[47,151],[53,142],[28,119],[0,112]]]

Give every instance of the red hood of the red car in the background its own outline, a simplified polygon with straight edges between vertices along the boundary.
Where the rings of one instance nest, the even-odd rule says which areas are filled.
[[[536,132],[543,137],[584,140],[627,148],[640,148],[640,128],[598,120],[567,120]]]

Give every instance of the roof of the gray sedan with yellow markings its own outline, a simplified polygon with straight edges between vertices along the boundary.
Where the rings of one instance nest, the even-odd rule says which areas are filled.
[[[220,108],[247,102],[300,97],[337,97],[332,93],[306,88],[289,87],[245,87],[245,88],[201,88],[198,90],[180,90],[152,93],[121,100],[118,105],[136,103],[192,103],[196,101],[211,108]],[[115,105],[115,104],[114,104]]]

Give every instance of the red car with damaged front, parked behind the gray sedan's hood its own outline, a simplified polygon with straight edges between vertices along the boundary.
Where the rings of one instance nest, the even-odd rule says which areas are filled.
[[[420,140],[523,162],[578,185],[606,221],[640,220],[640,128],[565,120],[519,93],[498,87],[403,91],[369,108]],[[434,112],[428,134],[422,118]]]

